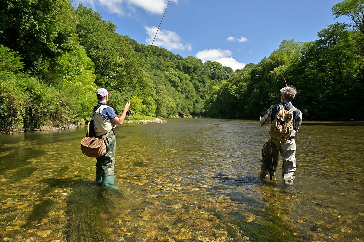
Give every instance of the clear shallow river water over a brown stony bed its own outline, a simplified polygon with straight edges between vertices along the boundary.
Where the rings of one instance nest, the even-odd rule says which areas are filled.
[[[303,122],[293,185],[261,180],[256,120],[115,129],[115,187],[86,126],[0,135],[0,241],[364,241],[364,123]]]

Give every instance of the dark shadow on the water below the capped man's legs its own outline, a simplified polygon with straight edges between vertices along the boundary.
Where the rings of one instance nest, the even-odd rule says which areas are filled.
[[[80,180],[48,179],[44,182],[54,188],[72,188],[66,199],[68,242],[112,241],[108,224],[116,220],[112,211],[116,209],[118,198],[123,197],[122,190]]]

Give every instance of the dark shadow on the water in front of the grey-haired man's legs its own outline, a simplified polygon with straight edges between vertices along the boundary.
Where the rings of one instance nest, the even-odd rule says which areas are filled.
[[[231,186],[238,189],[226,189],[230,192],[226,193],[230,200],[236,205],[236,209],[232,210],[227,216],[216,214],[222,224],[222,228],[227,232],[234,233],[232,224],[239,226],[241,231],[253,239],[252,241],[297,241],[297,237],[293,234],[299,234],[298,241],[307,240],[307,235],[298,233],[297,228],[293,227],[289,221],[284,221],[280,216],[282,213],[280,207],[267,205],[266,201],[259,201],[255,197],[244,195],[241,191],[250,190],[256,194],[258,187],[270,186],[277,189],[278,193],[289,193],[294,189],[293,186],[285,186],[279,181],[261,179],[257,176],[237,176],[231,177],[223,173],[217,173],[213,179],[219,181],[218,187]],[[215,188],[210,190],[214,193]],[[225,223],[226,220],[226,223]],[[289,231],[289,232],[288,232]],[[288,233],[287,233],[288,232]],[[306,237],[306,238],[305,238]]]

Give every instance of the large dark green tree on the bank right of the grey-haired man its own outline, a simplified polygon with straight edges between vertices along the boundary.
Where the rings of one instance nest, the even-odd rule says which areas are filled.
[[[356,105],[363,98],[357,93],[363,87],[360,69],[363,60],[351,51],[355,43],[353,36],[345,24],[336,23],[321,30],[319,39],[305,46],[295,71],[302,73],[301,80],[297,80],[298,89],[306,91],[296,102],[308,119],[363,117],[360,105]]]

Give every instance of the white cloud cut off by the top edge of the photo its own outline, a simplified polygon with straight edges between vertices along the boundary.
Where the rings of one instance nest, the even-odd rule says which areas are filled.
[[[90,3],[92,8],[100,5],[111,13],[126,15],[126,12],[135,12],[135,7],[144,9],[151,14],[161,15],[165,12],[168,0],[79,0],[82,3]],[[177,3],[178,0],[172,0]]]

